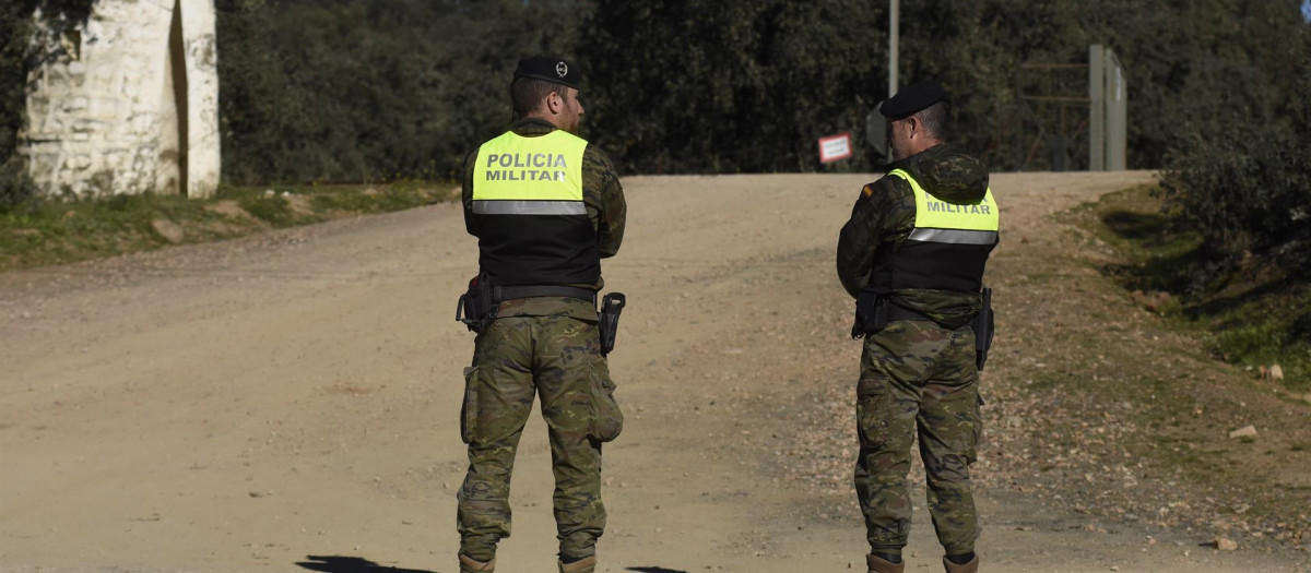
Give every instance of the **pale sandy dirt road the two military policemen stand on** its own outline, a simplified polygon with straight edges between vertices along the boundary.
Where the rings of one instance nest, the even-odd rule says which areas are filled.
[[[1051,213],[1148,178],[996,175],[992,272],[1028,256],[1019,230],[1061,241]],[[602,570],[861,569],[853,429],[825,421],[852,408],[831,398],[859,356],[832,251],[868,179],[624,181],[604,273],[631,302],[611,357],[628,424],[606,449]],[[452,318],[475,264],[437,205],[0,275],[0,572],[454,573],[473,339]],[[544,434],[534,417],[499,570],[555,570]],[[985,484],[985,570],[1311,570],[1197,532],[1089,531],[1047,501]],[[916,510],[907,570],[940,570]]]

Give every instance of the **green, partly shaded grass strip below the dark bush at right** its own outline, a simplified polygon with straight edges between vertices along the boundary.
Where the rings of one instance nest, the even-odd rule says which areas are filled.
[[[1249,368],[1253,375],[1278,365],[1285,390],[1311,391],[1311,285],[1255,255],[1218,272],[1223,255],[1177,212],[1164,209],[1154,190],[1110,194],[1068,215],[1127,259],[1103,271],[1124,288],[1141,290],[1135,298],[1172,326],[1205,331],[1211,356]]]

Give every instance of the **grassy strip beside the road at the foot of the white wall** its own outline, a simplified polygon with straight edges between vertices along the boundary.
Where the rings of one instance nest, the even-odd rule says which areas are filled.
[[[450,199],[447,182],[219,188],[212,199],[115,195],[0,205],[0,272],[67,264]]]

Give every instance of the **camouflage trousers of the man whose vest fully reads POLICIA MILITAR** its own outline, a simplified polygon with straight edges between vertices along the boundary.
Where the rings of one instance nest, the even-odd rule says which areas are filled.
[[[600,445],[623,428],[597,324],[561,315],[498,318],[479,334],[464,378],[460,434],[469,470],[458,493],[460,552],[488,561],[510,536],[510,474],[536,394],[551,438],[560,552],[594,555],[606,527]]]

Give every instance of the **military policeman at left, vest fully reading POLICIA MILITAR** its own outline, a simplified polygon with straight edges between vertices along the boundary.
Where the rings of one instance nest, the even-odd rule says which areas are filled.
[[[610,160],[578,137],[581,73],[558,58],[519,60],[517,120],[464,162],[464,225],[479,238],[477,280],[498,305],[464,370],[460,434],[469,468],[458,493],[461,573],[494,570],[510,536],[515,447],[541,398],[551,440],[562,573],[591,573],[606,527],[600,446],[623,425],[598,336],[600,259],[624,238],[624,194]]]

